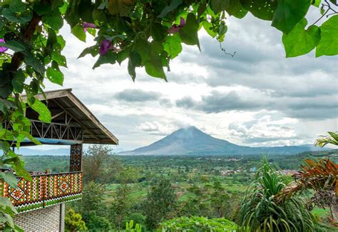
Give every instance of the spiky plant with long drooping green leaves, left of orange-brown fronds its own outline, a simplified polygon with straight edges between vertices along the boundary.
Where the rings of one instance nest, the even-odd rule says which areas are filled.
[[[250,231],[314,231],[312,213],[299,196],[277,198],[285,183],[265,159],[242,199],[238,218]]]

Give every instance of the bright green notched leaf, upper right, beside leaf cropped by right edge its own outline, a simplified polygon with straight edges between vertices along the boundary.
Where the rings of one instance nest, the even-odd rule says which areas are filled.
[[[282,41],[287,57],[307,54],[319,43],[319,27],[310,26],[309,29],[305,30],[305,26],[307,26],[307,20],[302,19],[289,34],[283,34]]]

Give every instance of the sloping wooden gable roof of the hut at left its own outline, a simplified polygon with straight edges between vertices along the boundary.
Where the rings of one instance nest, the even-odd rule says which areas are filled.
[[[26,96],[23,96],[24,100],[25,98]],[[46,91],[44,95],[36,95],[36,98],[45,102],[51,111],[52,123],[63,123],[63,121],[70,121],[71,118],[70,123],[81,126],[83,143],[118,144],[118,138],[98,121],[98,118],[78,100],[71,89]],[[38,118],[36,112],[31,109],[27,109],[26,116],[30,119]]]

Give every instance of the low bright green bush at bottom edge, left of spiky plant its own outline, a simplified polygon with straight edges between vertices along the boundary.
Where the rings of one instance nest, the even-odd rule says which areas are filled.
[[[225,218],[203,218],[193,216],[191,218],[181,217],[160,223],[158,231],[185,231],[185,232],[212,232],[212,231],[236,231],[236,223]]]

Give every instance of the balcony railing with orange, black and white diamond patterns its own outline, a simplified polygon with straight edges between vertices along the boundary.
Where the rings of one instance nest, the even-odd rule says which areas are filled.
[[[82,173],[53,173],[18,178],[17,188],[0,181],[0,196],[11,200],[19,213],[75,201],[82,197]]]

